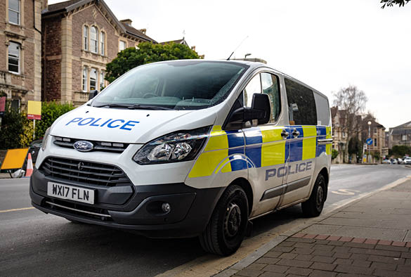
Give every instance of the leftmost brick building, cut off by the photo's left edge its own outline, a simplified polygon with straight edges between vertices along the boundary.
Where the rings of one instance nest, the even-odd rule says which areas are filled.
[[[0,0],[0,91],[24,109],[41,100],[41,11],[47,0]]]

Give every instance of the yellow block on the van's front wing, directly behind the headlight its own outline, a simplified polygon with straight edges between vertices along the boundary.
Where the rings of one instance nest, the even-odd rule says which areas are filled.
[[[210,176],[213,174],[214,170],[218,164],[226,159],[228,156],[228,149],[216,150],[211,152],[204,152],[197,158],[193,168],[188,174],[189,178]],[[226,167],[223,168],[221,172],[230,172],[231,165],[228,163]]]

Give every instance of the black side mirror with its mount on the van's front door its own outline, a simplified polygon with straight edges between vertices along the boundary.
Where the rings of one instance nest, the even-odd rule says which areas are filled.
[[[242,129],[245,122],[258,120],[259,124],[266,124],[270,121],[270,98],[267,94],[254,94],[251,108],[237,108],[226,121],[227,130]]]

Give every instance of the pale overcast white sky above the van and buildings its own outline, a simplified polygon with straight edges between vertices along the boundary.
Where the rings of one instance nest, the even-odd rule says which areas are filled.
[[[48,4],[59,1],[49,0]],[[411,121],[411,3],[379,0],[105,0],[156,41],[181,39],[206,59],[262,58],[321,91],[365,92],[380,124]],[[244,40],[245,39],[245,40]]]

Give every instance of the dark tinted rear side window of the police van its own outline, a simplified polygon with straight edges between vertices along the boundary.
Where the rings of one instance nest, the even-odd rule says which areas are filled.
[[[313,91],[287,78],[285,78],[285,90],[289,107],[289,123],[317,125],[317,109]]]

